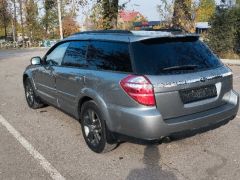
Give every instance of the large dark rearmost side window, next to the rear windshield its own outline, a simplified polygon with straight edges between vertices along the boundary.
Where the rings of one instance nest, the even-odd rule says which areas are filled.
[[[87,61],[89,69],[132,72],[127,43],[92,41]]]

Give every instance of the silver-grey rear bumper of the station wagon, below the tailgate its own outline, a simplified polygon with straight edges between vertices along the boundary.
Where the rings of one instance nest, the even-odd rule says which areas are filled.
[[[191,115],[163,120],[156,108],[113,107],[109,110],[111,131],[144,140],[155,140],[185,130],[194,130],[232,119],[238,111],[239,96],[232,91],[220,107]]]

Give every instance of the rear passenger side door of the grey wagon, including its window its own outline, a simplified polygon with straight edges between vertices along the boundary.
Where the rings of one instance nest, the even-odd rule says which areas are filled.
[[[58,105],[74,114],[78,96],[84,87],[83,69],[87,68],[87,41],[72,41],[61,66],[55,69]]]

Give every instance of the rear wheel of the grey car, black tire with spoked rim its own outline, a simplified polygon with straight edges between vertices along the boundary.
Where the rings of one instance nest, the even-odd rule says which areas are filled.
[[[81,126],[84,140],[92,151],[106,153],[117,146],[102,112],[92,100],[85,102],[81,108]]]

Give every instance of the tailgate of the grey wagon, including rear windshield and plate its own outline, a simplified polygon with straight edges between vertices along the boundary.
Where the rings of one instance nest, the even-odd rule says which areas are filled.
[[[164,119],[203,112],[226,103],[228,68],[197,38],[154,39],[133,44],[136,71],[154,86]]]

